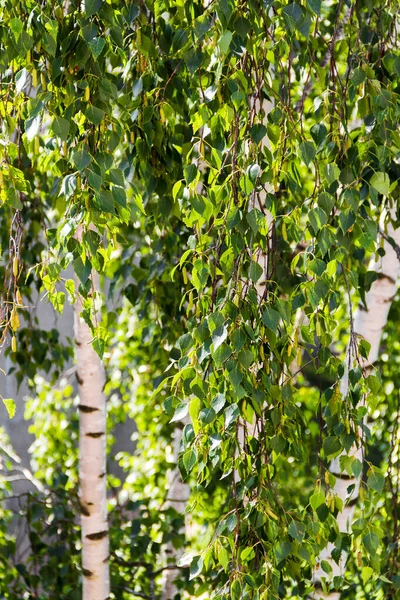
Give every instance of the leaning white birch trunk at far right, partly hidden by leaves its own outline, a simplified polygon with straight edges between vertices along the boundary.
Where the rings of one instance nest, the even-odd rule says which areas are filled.
[[[400,246],[400,228],[394,229],[390,224],[388,226],[388,236],[392,237],[394,242]],[[354,315],[354,333],[357,336],[363,337],[371,344],[368,360],[361,359],[361,364],[367,371],[370,370],[378,360],[382,334],[388,320],[390,306],[397,291],[397,280],[400,276],[400,261],[396,252],[386,239],[384,242],[384,250],[385,255],[377,262],[373,262],[370,266],[370,269],[379,273],[379,276],[372,284],[370,291],[366,294],[366,309],[360,305]],[[350,344],[347,350],[347,357],[350,358],[351,362],[354,359]],[[348,393],[347,372],[341,382],[341,393],[343,396],[346,396]],[[350,449],[349,454],[355,456],[362,462],[362,448],[353,446]],[[334,493],[339,496],[344,503],[347,498],[347,488],[350,485],[355,486],[350,503],[341,513],[339,513],[337,519],[339,531],[348,532],[351,530],[353,515],[359,495],[360,478],[345,478],[340,469],[339,459],[340,457],[333,460],[329,467],[330,472],[337,478]],[[322,551],[320,560],[328,561],[332,567],[333,576],[338,576],[342,575],[345,570],[347,554],[342,554],[343,558],[338,565],[331,558],[331,552],[334,547],[334,544],[328,544]],[[317,582],[321,581],[322,577],[326,577],[326,574],[321,569],[318,569],[315,573],[315,580]],[[329,600],[336,600],[340,597],[340,593],[332,592],[327,596],[323,596],[322,594],[320,594],[320,596],[329,598]]]

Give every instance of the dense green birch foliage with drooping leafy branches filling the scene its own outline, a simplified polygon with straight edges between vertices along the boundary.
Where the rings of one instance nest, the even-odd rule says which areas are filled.
[[[57,381],[71,347],[39,330],[38,290],[60,312],[82,296],[110,427],[127,413],[138,426],[110,496],[112,597],[157,597],[164,547],[183,543],[182,515],[164,507],[175,427],[197,532],[187,594],[305,598],[329,540],[350,559],[334,581],[322,565],[325,589],[395,597],[398,304],[374,372],[351,315],[400,218],[397,9],[2,0],[1,335],[37,394],[34,468],[49,490],[24,509],[38,564],[10,567],[4,528],[3,597],[79,597],[74,393],[35,380]],[[362,478],[362,502],[343,534],[328,465],[354,443],[364,464],[341,466]]]

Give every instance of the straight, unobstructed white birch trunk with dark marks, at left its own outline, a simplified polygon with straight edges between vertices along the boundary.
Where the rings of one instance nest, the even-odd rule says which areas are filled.
[[[79,480],[82,526],[83,600],[110,595],[106,497],[106,399],[104,367],[91,344],[92,334],[75,304],[79,393]]]

